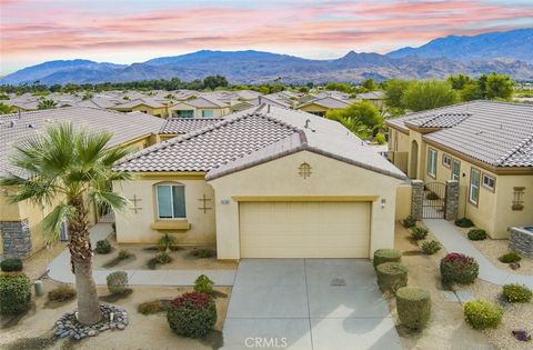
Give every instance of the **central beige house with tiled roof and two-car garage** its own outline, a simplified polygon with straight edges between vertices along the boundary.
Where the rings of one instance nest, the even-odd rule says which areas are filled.
[[[369,258],[394,241],[405,176],[342,124],[261,104],[118,162],[122,243],[217,244],[219,259]]]

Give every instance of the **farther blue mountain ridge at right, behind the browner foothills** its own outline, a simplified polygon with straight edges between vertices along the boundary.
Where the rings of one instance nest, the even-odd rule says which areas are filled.
[[[391,58],[416,56],[454,60],[493,60],[511,58],[533,63],[533,28],[491,32],[472,37],[450,36],[420,48],[403,48],[388,54]]]

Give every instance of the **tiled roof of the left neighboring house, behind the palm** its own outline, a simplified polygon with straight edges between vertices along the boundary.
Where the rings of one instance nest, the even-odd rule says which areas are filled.
[[[113,133],[109,147],[115,147],[150,133],[164,124],[161,118],[142,112],[121,113],[87,107],[66,107],[0,116],[0,174],[17,169],[9,164],[12,146],[42,131],[47,126],[72,122],[91,131]]]

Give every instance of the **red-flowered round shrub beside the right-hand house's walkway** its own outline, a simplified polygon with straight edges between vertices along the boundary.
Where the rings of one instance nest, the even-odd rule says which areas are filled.
[[[480,267],[474,258],[451,252],[441,259],[441,277],[444,286],[470,284],[475,281]]]

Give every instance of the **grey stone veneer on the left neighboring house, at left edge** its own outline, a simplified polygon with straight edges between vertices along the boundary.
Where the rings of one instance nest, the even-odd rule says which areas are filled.
[[[2,221],[0,231],[3,241],[3,257],[28,258],[31,252],[31,232],[28,220]]]

